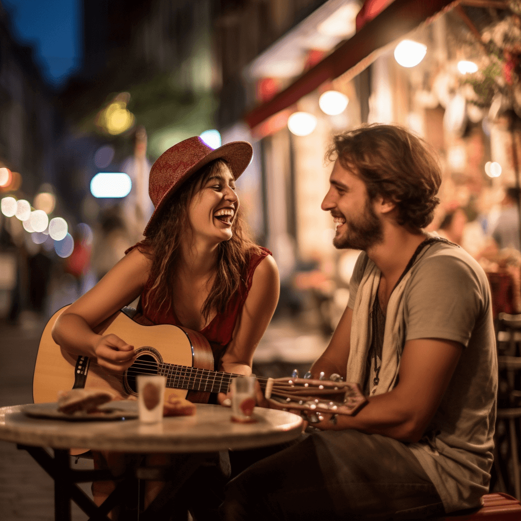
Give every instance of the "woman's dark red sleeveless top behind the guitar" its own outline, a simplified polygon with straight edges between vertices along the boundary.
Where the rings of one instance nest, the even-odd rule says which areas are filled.
[[[133,250],[138,244],[130,247],[125,254]],[[246,297],[252,287],[253,274],[259,263],[271,252],[266,248],[261,247],[260,254],[252,254],[250,257],[250,263],[247,269],[246,280],[241,280],[239,291],[235,293],[228,302],[224,313],[217,313],[215,317],[203,328],[201,333],[206,340],[208,340],[212,351],[214,353],[214,359],[217,361],[220,359],[222,354],[226,350],[226,346],[231,342],[235,324],[237,318],[242,312]],[[173,326],[182,326],[181,322],[177,318],[170,306],[170,309],[166,311],[166,306],[161,306],[160,309],[152,308],[151,306],[145,305],[143,307],[142,302],[146,302],[146,295],[150,291],[153,281],[150,279],[145,284],[141,298],[138,304],[138,313],[142,314],[145,319],[150,320],[154,325],[159,324],[172,324]]]

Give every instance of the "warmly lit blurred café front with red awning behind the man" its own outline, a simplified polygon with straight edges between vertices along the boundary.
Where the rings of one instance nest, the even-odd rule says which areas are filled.
[[[405,28],[400,24],[407,17],[395,14],[407,8],[413,13],[412,4],[321,3],[241,71],[243,99],[250,113],[228,123],[228,129],[235,129],[235,134],[241,129],[259,156],[259,237],[274,252],[282,281],[297,289],[311,284],[325,306],[338,302],[337,307],[345,307],[356,252],[339,252],[331,245],[332,219],[320,210],[331,170],[324,153],[334,134],[364,122],[403,125],[438,153],[443,171],[441,204],[430,230],[436,231],[446,215],[462,209],[468,221],[462,245],[487,270],[501,270],[513,262],[512,255],[505,254],[510,259],[505,261],[494,250],[491,235],[505,189],[519,182],[518,6],[465,0],[438,13],[449,4],[438,2],[423,18],[419,11],[415,13],[416,24]],[[389,37],[378,48],[370,48],[362,35],[364,24],[375,17],[376,25],[367,26],[369,34],[371,27],[380,27]],[[373,36],[382,40],[378,34]],[[400,64],[395,49],[402,40],[417,44],[423,59]],[[363,48],[368,49],[365,55]],[[343,70],[329,62],[336,72],[307,88],[306,82],[313,84],[319,73],[325,74],[322,61],[338,49],[343,49],[344,57],[351,51],[359,58]],[[242,49],[235,55],[233,49],[230,52],[235,59],[229,61],[239,63]],[[314,71],[318,71],[315,77]],[[328,115],[320,108],[320,96],[326,91],[348,99],[339,114]],[[270,111],[274,98],[277,109]],[[291,132],[289,120],[295,113],[309,116],[313,128]],[[244,119],[254,123],[241,127]],[[316,277],[313,267],[318,268]],[[301,277],[302,269],[308,270],[308,276]],[[334,312],[329,315],[339,317]]]

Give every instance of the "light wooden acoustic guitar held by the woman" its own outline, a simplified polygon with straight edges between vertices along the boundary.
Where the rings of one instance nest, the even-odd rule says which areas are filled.
[[[116,334],[134,345],[134,363],[121,375],[107,373],[95,359],[72,355],[59,345],[51,330],[59,309],[42,333],[34,367],[34,403],[55,402],[59,391],[96,388],[110,391],[119,399],[137,396],[138,375],[166,376],[165,398],[174,394],[192,402],[205,403],[210,393],[228,392],[231,373],[214,370],[208,341],[197,331],[172,326],[144,326],[124,308],[102,322],[97,333]],[[133,311],[133,310],[132,310]],[[354,414],[366,399],[357,384],[304,378],[257,378],[271,407]]]

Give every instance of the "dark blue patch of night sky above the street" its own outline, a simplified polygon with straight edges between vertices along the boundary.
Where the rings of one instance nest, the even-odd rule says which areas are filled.
[[[44,79],[59,87],[80,65],[81,0],[0,0],[13,36],[34,49]]]

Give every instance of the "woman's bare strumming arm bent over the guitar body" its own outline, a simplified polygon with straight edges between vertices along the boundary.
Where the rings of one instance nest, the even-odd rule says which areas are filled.
[[[93,328],[141,294],[150,264],[137,248],[123,257],[58,317],[52,330],[54,341],[69,353],[97,358],[111,372],[125,370],[132,363],[133,346],[114,334],[97,334]]]

